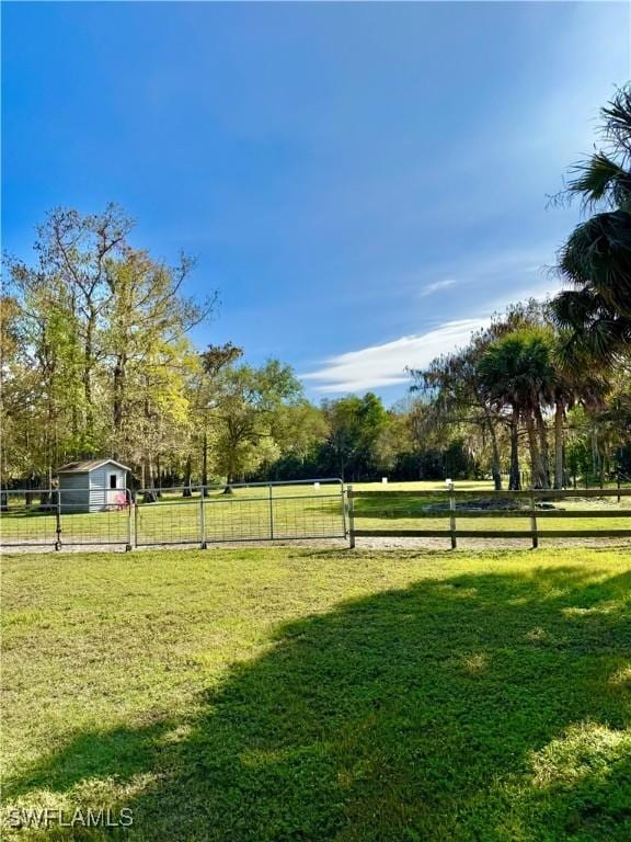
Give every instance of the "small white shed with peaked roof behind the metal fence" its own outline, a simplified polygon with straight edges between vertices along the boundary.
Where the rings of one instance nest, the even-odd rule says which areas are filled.
[[[114,459],[70,462],[57,470],[62,512],[102,512],[126,503],[129,468]]]

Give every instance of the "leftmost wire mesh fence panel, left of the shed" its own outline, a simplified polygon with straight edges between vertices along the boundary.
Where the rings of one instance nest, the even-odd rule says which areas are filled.
[[[4,547],[57,543],[57,502],[50,489],[2,491],[0,544]]]

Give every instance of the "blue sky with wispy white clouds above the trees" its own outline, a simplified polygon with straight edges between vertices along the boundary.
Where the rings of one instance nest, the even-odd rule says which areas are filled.
[[[2,238],[123,205],[218,289],[199,345],[311,397],[405,391],[544,271],[631,77],[628,3],[2,3]]]

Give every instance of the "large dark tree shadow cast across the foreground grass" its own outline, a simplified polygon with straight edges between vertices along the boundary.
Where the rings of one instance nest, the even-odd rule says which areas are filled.
[[[147,842],[629,840],[630,585],[555,568],[342,604],[197,718],[81,733],[5,797],[149,773],[116,805]]]

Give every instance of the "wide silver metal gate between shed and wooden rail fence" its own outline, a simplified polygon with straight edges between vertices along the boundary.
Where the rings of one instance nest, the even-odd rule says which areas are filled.
[[[140,489],[135,546],[345,538],[341,479]]]

